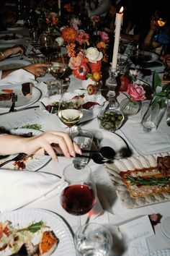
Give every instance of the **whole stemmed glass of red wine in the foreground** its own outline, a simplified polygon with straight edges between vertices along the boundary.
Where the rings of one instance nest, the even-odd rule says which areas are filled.
[[[81,215],[89,213],[93,208],[97,192],[91,168],[76,169],[71,163],[63,170],[65,187],[61,192],[61,205],[70,214],[79,216],[81,228]]]

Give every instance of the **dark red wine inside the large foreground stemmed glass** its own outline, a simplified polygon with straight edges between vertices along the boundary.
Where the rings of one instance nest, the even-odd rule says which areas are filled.
[[[86,184],[74,184],[63,189],[61,193],[62,207],[74,216],[89,212],[96,202],[93,189]]]

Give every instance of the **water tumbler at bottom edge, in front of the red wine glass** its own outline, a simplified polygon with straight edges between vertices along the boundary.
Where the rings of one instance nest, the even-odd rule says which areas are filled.
[[[81,226],[74,236],[77,256],[107,256],[112,248],[112,234],[97,223]]]

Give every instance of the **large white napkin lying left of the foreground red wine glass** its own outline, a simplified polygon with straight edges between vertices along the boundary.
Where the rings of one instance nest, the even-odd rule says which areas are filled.
[[[47,195],[58,193],[61,179],[53,174],[34,171],[0,171],[0,211],[16,210]],[[54,193],[53,193],[54,194]]]

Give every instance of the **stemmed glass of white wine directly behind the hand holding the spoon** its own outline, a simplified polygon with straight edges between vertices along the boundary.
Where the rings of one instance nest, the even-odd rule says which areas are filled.
[[[69,127],[69,133],[71,127],[77,124],[82,116],[82,99],[79,93],[75,91],[63,93],[59,101],[58,117]]]

